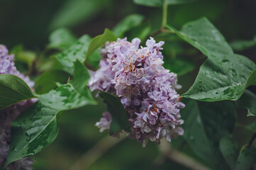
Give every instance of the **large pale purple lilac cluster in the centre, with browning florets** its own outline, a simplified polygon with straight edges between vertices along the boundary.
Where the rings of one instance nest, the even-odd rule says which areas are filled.
[[[140,42],[139,38],[106,42],[100,69],[92,72],[88,86],[91,91],[108,91],[119,97],[132,130],[129,137],[146,146],[148,140],[159,143],[163,137],[171,141],[183,135],[179,108],[185,105],[176,93],[180,88],[176,74],[163,67],[159,50],[164,42],[150,38],[146,47],[139,47]],[[109,129],[110,123],[110,113],[104,113],[96,125],[102,131]]]

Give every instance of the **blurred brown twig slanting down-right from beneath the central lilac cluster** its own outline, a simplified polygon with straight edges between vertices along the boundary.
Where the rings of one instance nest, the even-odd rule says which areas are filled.
[[[178,150],[171,148],[169,142],[167,142],[166,140],[161,141],[160,150],[165,157],[171,159],[178,164],[186,166],[188,169],[209,170],[208,167],[200,164],[199,162],[196,162],[196,160],[188,157],[186,154],[183,154]]]

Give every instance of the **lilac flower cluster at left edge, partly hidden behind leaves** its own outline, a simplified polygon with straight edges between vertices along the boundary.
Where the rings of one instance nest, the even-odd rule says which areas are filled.
[[[0,45],[0,74],[14,74],[20,77],[30,88],[33,88],[33,81],[28,77],[17,71],[14,65],[14,55],[9,55],[9,51],[4,45]],[[8,156],[9,147],[11,143],[11,121],[14,120],[21,111],[31,106],[35,100],[22,101],[14,106],[9,106],[0,111],[0,167],[4,166]],[[31,170],[33,162],[31,159],[21,159],[13,162],[6,167],[6,170]]]

